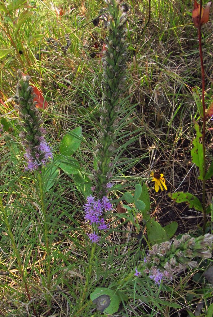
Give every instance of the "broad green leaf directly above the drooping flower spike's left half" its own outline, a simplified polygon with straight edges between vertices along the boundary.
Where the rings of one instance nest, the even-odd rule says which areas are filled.
[[[147,236],[150,244],[161,243],[167,241],[167,234],[160,223],[151,219],[146,223]]]

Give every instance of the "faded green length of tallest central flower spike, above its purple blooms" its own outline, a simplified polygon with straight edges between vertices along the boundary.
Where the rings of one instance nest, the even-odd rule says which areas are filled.
[[[96,193],[104,196],[109,190],[114,152],[113,142],[118,129],[118,115],[122,105],[121,96],[125,87],[126,73],[126,13],[116,0],[107,0],[109,11],[108,37],[103,52],[102,107],[100,118],[100,139],[97,152],[97,171],[95,172]]]

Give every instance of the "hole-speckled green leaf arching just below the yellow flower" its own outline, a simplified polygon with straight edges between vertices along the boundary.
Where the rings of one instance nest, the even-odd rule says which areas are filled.
[[[190,208],[195,208],[198,211],[203,211],[201,202],[194,195],[183,191],[177,191],[176,193],[169,193],[168,196],[173,199],[176,203],[186,203]]]

